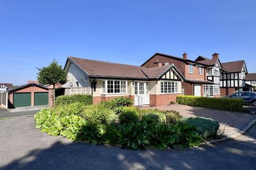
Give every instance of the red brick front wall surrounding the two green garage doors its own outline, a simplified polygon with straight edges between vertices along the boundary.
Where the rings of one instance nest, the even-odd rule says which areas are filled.
[[[34,92],[48,92],[49,90],[42,89],[37,86],[29,86],[22,89],[18,89],[16,91],[13,91],[11,94],[9,94],[9,107],[13,107],[13,93],[21,93],[21,92],[31,92],[31,106],[34,106]],[[49,105],[52,106],[52,100],[50,100],[50,94],[52,94],[52,91],[49,92]],[[51,98],[52,99],[52,98]]]

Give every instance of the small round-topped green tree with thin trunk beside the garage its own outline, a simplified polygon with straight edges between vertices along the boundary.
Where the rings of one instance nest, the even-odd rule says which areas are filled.
[[[37,68],[38,69],[38,68]],[[62,69],[56,60],[42,69],[38,69],[37,80],[40,84],[50,84],[53,86],[53,103],[55,100],[55,84],[65,84],[67,82],[67,73]]]

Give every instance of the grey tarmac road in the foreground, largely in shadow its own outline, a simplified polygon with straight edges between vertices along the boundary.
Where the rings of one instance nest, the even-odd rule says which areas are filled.
[[[35,129],[34,117],[0,120],[0,169],[255,169],[256,126],[188,149],[127,150],[73,143]]]

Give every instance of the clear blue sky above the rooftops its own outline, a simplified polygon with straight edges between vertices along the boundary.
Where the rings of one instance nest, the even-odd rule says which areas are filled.
[[[67,56],[140,65],[156,52],[220,53],[256,72],[255,1],[1,1],[0,82]]]

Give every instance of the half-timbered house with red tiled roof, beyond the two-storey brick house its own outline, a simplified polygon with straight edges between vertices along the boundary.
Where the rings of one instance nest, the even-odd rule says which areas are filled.
[[[245,61],[221,63],[220,93],[221,96],[234,94],[246,88],[245,75],[247,68]]]

